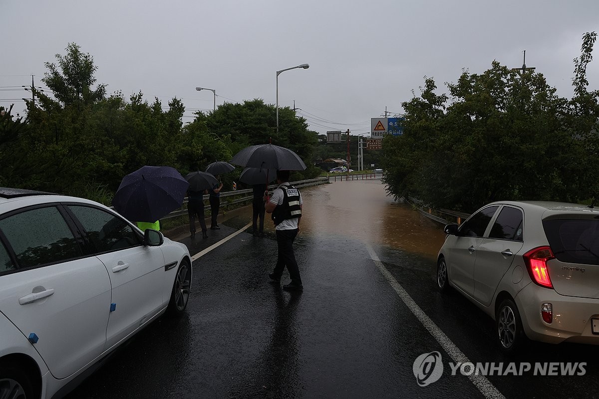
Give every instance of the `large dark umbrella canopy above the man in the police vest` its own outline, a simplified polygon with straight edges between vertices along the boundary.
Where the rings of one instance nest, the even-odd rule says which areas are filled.
[[[235,154],[231,163],[276,170],[305,170],[305,163],[298,154],[288,148],[273,144],[246,147]]]

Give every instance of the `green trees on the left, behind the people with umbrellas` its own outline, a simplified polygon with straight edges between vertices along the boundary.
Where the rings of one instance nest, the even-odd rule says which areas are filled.
[[[35,91],[27,101],[28,117],[0,115],[0,185],[88,197],[109,204],[123,176],[144,165],[173,166],[182,175],[228,161],[242,148],[268,142],[292,148],[311,164],[316,135],[289,108],[280,109],[276,135],[275,107],[262,100],[198,112],[183,125],[184,105],[173,98],[163,106],[139,92],[125,99],[107,96],[97,84],[98,67],[90,54],[70,43],[56,63],[46,63],[43,82],[52,90]],[[241,168],[221,176],[231,190]],[[310,167],[301,176],[314,173]]]

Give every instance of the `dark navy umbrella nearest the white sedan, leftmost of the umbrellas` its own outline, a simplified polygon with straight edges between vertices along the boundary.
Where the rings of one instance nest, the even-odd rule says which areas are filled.
[[[113,206],[131,221],[154,223],[183,205],[189,183],[170,166],[143,166],[123,178]]]

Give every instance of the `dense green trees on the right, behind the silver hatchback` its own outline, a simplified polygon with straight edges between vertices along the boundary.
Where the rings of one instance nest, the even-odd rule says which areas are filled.
[[[597,92],[588,93],[587,33],[576,63],[576,96],[559,98],[542,74],[498,62],[464,71],[436,95],[432,79],[403,103],[403,136],[387,136],[383,181],[395,197],[474,211],[494,200],[581,201],[599,196]],[[449,102],[449,103],[448,103]]]

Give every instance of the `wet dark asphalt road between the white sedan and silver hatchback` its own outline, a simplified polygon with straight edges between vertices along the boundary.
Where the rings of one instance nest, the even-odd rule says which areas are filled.
[[[379,182],[355,184],[373,188],[369,184]],[[331,186],[304,191],[305,214],[310,206],[330,205],[336,195]],[[440,226],[414,213],[437,245]],[[271,231],[260,238],[238,234],[193,262],[186,315],[158,319],[68,398],[484,397],[468,377],[451,375],[449,355],[377,269],[364,237],[307,220],[295,245],[303,293],[269,284],[277,251]],[[248,222],[236,217],[221,230],[208,230],[206,240],[181,242],[193,255]],[[504,397],[599,396],[595,346],[531,343],[525,354],[508,358],[497,348],[491,319],[458,294],[435,290],[432,254],[438,248],[381,242],[370,245],[385,269],[474,363],[587,362],[585,376],[489,377]],[[443,356],[443,376],[421,387],[412,366],[432,351]]]

